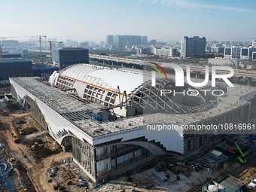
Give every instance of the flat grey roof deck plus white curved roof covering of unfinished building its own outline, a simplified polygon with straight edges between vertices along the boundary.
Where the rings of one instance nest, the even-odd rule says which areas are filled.
[[[143,81],[143,79],[141,79],[143,76],[139,75],[137,70],[114,70],[92,67],[90,65],[70,67],[66,70],[62,70],[60,74],[74,78],[75,80],[101,85],[114,91],[118,85],[120,86],[120,90],[126,90],[127,93],[132,92],[132,90],[142,84]],[[172,78],[174,76],[168,75],[168,77]],[[139,78],[139,80],[137,80],[137,78]],[[166,114],[159,112],[156,114],[144,114],[143,116],[123,117],[119,120],[99,123],[93,120],[91,113],[93,110],[107,110],[105,106],[96,102],[78,99],[57,88],[50,87],[50,85],[39,81],[37,78],[11,79],[90,136],[102,136],[124,130],[138,129],[138,127],[142,128],[143,125],[147,124],[173,123],[181,126],[184,124],[197,123],[202,120],[207,121],[212,117],[217,117],[239,106],[246,105],[247,101],[256,95],[256,90],[251,90],[251,87],[236,84],[235,87],[227,87],[227,93],[225,93],[224,96],[217,97],[217,105],[208,108],[206,111],[190,114]],[[202,81],[202,79],[193,81]],[[88,125],[90,125],[90,128],[88,128]]]

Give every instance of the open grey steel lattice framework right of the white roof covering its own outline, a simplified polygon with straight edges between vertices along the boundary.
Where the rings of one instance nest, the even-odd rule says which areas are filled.
[[[161,90],[172,90],[172,93],[163,94],[161,96]],[[156,86],[151,85],[151,81],[146,81],[133,90],[130,97],[129,104],[132,107],[144,108],[148,112],[167,112],[172,114],[187,114],[191,112],[204,111],[207,108],[211,108],[217,105],[217,100],[212,96],[205,96],[203,91],[198,91],[198,96],[202,99],[200,104],[186,105],[184,102],[175,102],[177,96],[173,96],[173,92],[181,93],[184,90],[197,90],[191,87],[189,84],[185,84],[184,87],[175,87],[175,80],[173,79],[157,79]],[[174,99],[175,98],[175,99]]]

